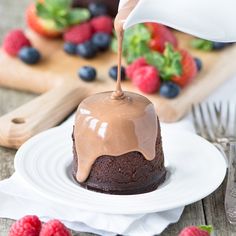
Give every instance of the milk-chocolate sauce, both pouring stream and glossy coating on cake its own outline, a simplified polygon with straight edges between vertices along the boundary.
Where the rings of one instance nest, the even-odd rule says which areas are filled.
[[[142,95],[123,92],[121,87],[123,23],[137,2],[128,1],[115,19],[118,38],[116,90],[86,98],[76,113],[74,138],[78,160],[76,179],[79,182],[87,179],[100,156],[116,158],[134,151],[150,161],[156,156],[159,128],[154,105]]]

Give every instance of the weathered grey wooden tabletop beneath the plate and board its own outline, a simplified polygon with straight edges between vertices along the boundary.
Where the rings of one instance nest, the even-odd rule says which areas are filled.
[[[0,1],[0,41],[11,28],[24,27],[23,12],[30,0],[1,0]],[[9,70],[12,69],[9,65]],[[0,116],[33,99],[35,95],[5,88],[0,88]],[[0,147],[0,180],[8,178],[14,172],[13,160],[15,151]],[[193,186],[194,188],[194,186]],[[224,214],[223,184],[209,197],[185,208],[178,223],[169,226],[163,236],[175,236],[187,225],[211,224],[216,236],[236,236],[236,227],[227,223]],[[0,209],[1,210],[1,209]],[[0,219],[0,236],[7,236],[12,220]],[[158,223],[158,222],[157,222]],[[74,235],[78,235],[75,233]],[[80,233],[88,236],[91,234]]]

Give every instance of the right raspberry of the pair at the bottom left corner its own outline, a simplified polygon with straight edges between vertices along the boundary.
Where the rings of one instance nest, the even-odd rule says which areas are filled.
[[[50,220],[43,225],[40,236],[71,236],[71,233],[59,220]]]

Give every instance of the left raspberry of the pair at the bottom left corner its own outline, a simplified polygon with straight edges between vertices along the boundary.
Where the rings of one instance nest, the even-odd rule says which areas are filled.
[[[25,216],[16,221],[10,228],[8,236],[38,236],[41,221],[37,216]]]

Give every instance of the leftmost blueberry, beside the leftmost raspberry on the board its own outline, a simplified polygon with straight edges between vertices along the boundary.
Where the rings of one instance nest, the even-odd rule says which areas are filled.
[[[36,48],[23,47],[19,51],[18,57],[26,64],[33,65],[39,62],[41,55]]]

